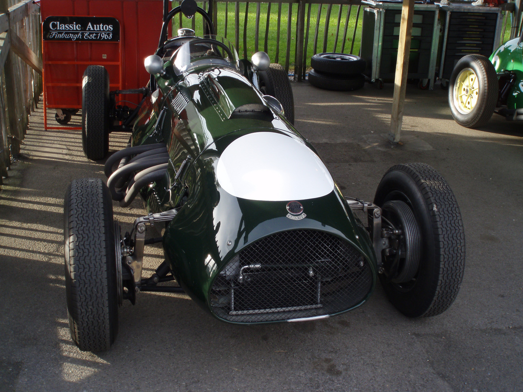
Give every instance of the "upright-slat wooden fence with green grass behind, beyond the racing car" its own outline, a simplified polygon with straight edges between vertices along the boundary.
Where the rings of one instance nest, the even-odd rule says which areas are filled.
[[[207,2],[199,5],[207,9]],[[362,5],[360,0],[213,0],[213,22],[240,57],[263,50],[300,81],[314,53],[359,53]],[[181,14],[175,24],[203,30],[201,21]]]

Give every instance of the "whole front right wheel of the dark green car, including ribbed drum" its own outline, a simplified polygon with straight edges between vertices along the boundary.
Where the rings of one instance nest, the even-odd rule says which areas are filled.
[[[461,213],[447,181],[425,164],[396,165],[383,176],[374,203],[382,207],[390,244],[377,255],[389,300],[408,317],[444,312],[465,267]]]

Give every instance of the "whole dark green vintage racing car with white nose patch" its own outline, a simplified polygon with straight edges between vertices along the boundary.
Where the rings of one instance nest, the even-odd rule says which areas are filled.
[[[202,15],[210,34],[181,29],[167,39],[179,12]],[[365,303],[379,279],[406,316],[444,312],[465,256],[445,179],[425,164],[396,165],[373,202],[343,197],[292,125],[281,66],[263,52],[239,60],[192,0],[164,20],[145,61],[151,80],[129,147],[107,158],[107,184],[78,179],[66,191],[66,297],[78,348],[108,349],[119,306],[144,291],[185,292],[220,320],[259,324],[342,314]],[[85,98],[94,103],[83,115],[104,124],[104,110],[93,108],[107,105],[105,70],[86,75]],[[84,137],[86,154],[105,143],[105,135]],[[147,213],[122,233],[112,203],[137,195]],[[144,276],[144,248],[153,243],[165,261]]]

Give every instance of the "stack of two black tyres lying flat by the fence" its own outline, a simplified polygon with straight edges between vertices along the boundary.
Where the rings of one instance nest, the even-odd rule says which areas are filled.
[[[309,82],[325,90],[358,90],[365,85],[365,65],[365,60],[354,54],[317,53],[311,57]]]

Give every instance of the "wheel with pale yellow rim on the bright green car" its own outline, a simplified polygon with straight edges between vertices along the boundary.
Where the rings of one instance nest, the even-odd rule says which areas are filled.
[[[449,80],[449,107],[456,122],[479,128],[492,117],[499,86],[494,65],[484,56],[470,54],[458,61]]]

